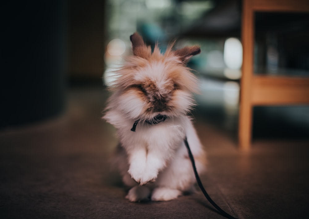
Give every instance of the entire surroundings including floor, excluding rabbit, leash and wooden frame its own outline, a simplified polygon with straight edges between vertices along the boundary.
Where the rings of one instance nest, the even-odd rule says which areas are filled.
[[[118,141],[101,119],[107,76],[131,54],[135,31],[162,52],[174,40],[201,46],[188,65],[201,90],[193,111],[207,151],[201,180],[215,202],[239,218],[306,218],[308,105],[254,107],[252,147],[239,150],[242,3],[2,2],[0,218],[221,218],[199,192],[129,203],[110,171]],[[308,83],[309,13],[255,18],[254,74]]]

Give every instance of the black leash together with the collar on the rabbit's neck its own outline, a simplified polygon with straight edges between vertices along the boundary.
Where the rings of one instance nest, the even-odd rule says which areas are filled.
[[[146,120],[146,122],[148,124],[158,124],[160,122],[163,122],[165,119],[167,118],[167,116],[163,116],[163,115],[158,115],[158,116],[155,116],[152,120]],[[136,130],[136,126],[138,124],[139,120],[136,120],[133,124],[133,127],[131,128],[131,131],[132,132],[135,132]],[[184,139],[184,144],[186,145],[187,147],[187,150],[188,150],[188,154],[189,154],[189,157],[190,157],[190,160],[191,160],[191,163],[192,163],[192,166],[193,166],[193,171],[194,171],[194,175],[195,175],[195,178],[196,178],[196,181],[197,181],[197,184],[198,186],[200,187],[200,189],[202,190],[204,196],[206,197],[206,199],[210,202],[210,204],[212,204],[221,214],[222,216],[224,217],[227,217],[227,218],[230,218],[230,219],[237,219],[236,217],[233,217],[231,215],[229,215],[228,213],[226,213],[225,211],[223,211],[211,198],[210,196],[208,195],[208,193],[206,192],[205,188],[203,187],[203,184],[201,182],[201,179],[197,173],[197,170],[196,170],[196,166],[195,166],[195,161],[194,161],[194,158],[193,158],[193,155],[191,153],[191,150],[190,150],[190,147],[189,147],[189,144],[188,144],[188,141],[187,141],[187,137],[185,137]]]

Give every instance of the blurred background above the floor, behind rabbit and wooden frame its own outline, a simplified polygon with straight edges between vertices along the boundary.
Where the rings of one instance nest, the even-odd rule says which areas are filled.
[[[1,129],[63,114],[73,87],[105,92],[138,31],[163,52],[175,39],[176,47],[201,45],[189,63],[201,86],[196,113],[237,136],[241,1],[20,1],[1,10]],[[256,73],[309,76],[308,14],[256,13],[255,25]],[[253,137],[309,136],[307,106],[254,107],[253,115]]]

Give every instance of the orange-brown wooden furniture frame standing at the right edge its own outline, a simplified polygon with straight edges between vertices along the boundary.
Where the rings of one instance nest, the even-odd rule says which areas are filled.
[[[247,150],[252,138],[252,107],[257,105],[309,104],[309,78],[253,74],[255,12],[306,12],[308,0],[243,0],[241,39],[239,147]]]

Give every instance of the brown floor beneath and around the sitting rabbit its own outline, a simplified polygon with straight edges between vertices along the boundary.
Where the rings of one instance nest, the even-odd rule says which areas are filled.
[[[125,199],[109,166],[115,130],[100,119],[106,98],[101,87],[74,87],[64,115],[0,132],[0,218],[224,218],[200,190],[167,202]],[[238,218],[307,218],[306,136],[256,135],[241,151],[237,115],[199,107],[194,116],[208,157],[201,179],[222,209]]]

